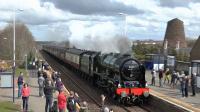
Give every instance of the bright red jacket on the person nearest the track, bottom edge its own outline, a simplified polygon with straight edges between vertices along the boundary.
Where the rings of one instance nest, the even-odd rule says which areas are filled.
[[[65,109],[66,108],[66,103],[67,103],[66,96],[65,96],[65,94],[63,92],[61,92],[58,95],[58,108],[59,109]]]

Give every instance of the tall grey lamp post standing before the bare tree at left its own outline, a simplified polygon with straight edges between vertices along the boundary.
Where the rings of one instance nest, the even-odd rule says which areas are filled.
[[[13,103],[15,102],[15,11],[22,9],[13,9]]]

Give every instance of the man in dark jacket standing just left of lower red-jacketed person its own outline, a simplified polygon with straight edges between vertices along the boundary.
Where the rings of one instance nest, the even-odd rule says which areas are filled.
[[[46,105],[45,105],[45,112],[51,112],[51,108],[53,106],[53,83],[51,79],[45,80],[45,87],[44,87],[44,94],[46,97]]]

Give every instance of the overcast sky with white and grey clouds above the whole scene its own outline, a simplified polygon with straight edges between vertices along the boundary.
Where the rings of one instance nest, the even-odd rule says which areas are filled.
[[[130,39],[162,40],[167,21],[184,22],[187,37],[200,34],[200,0],[0,0],[0,29],[13,18],[36,40],[122,35],[125,16]],[[23,11],[18,11],[23,9]]]

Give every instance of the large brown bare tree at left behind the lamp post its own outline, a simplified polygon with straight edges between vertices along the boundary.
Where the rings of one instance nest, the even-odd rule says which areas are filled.
[[[16,23],[16,59],[23,60],[25,54],[35,53],[35,41],[32,33],[23,23]],[[0,59],[11,60],[13,55],[13,25],[7,25],[0,32]]]

